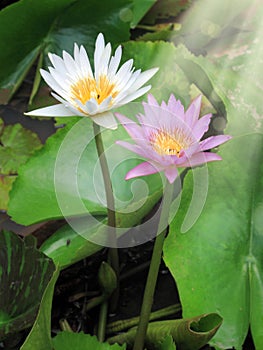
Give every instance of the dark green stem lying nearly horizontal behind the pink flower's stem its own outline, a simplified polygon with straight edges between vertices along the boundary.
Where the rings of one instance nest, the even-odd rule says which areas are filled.
[[[177,312],[181,311],[181,309],[181,304],[167,306],[163,309],[151,312],[149,321],[156,321],[160,318],[165,318],[167,316],[174,315]],[[107,325],[106,332],[107,334],[118,333],[124,331],[125,329],[138,326],[139,319],[139,317],[132,317],[126,320],[112,322]]]

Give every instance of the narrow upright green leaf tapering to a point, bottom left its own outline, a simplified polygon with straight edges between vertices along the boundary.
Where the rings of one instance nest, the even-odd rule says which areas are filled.
[[[50,279],[43,298],[40,303],[39,311],[35,323],[27,336],[21,350],[52,350],[51,343],[51,307],[55,283],[59,276],[58,268],[54,271]]]

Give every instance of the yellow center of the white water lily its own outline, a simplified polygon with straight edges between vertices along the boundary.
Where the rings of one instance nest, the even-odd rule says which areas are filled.
[[[116,85],[110,83],[106,75],[101,75],[97,81],[90,77],[82,78],[71,86],[72,99],[77,99],[82,104],[85,104],[91,98],[94,98],[100,104],[107,97],[114,98],[117,95]]]

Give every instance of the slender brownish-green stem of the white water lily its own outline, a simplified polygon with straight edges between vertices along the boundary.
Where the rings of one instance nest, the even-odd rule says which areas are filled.
[[[95,142],[97,147],[97,152],[99,156],[103,181],[104,181],[104,187],[105,187],[105,193],[106,193],[106,202],[107,202],[107,213],[108,213],[108,225],[111,227],[110,230],[110,240],[111,242],[116,242],[116,234],[113,231],[112,228],[116,227],[116,216],[115,216],[115,203],[114,203],[114,196],[112,191],[112,183],[110,178],[110,172],[108,167],[108,162],[105,157],[104,153],[104,147],[103,147],[103,140],[100,132],[99,125],[93,123],[93,130],[94,130],[94,136],[95,136]],[[117,248],[110,248],[109,249],[109,262],[116,274],[117,277],[117,288],[115,292],[112,294],[111,297],[111,311],[114,312],[119,299],[119,254]]]

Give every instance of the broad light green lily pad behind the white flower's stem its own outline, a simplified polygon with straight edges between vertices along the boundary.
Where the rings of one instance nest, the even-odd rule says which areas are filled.
[[[27,225],[63,215],[106,214],[103,179],[93,138],[91,121],[81,118],[49,138],[20,168],[9,203],[9,213],[15,221]],[[116,131],[107,130],[103,138],[112,169],[117,211],[125,217],[127,225],[129,220],[138,222],[162,194],[160,176],[125,181],[128,170],[138,164],[135,155],[115,144],[118,139],[127,139],[126,131],[121,127]],[[32,210],[32,206],[38,210]],[[117,223],[121,227],[120,221],[122,219]]]

